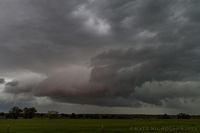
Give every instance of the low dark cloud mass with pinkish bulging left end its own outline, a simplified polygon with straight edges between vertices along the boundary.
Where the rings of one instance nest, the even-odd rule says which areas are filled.
[[[129,96],[132,93],[134,96],[135,88],[142,87],[146,82],[197,80],[200,62],[196,62],[195,67],[191,66],[196,60],[192,58],[196,53],[191,54],[193,49],[185,47],[183,45],[171,50],[169,46],[163,45],[158,48],[109,50],[92,58],[93,68],[89,78],[77,74],[69,80],[70,75],[67,73],[58,74],[43,81],[36,88],[36,95],[71,103],[135,106],[136,103]],[[187,60],[183,61],[184,56],[187,56]],[[79,83],[82,78],[85,81]],[[141,101],[138,97],[133,99]],[[158,105],[153,101],[150,104]]]

